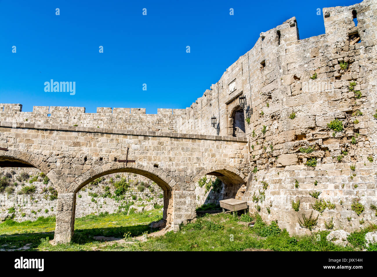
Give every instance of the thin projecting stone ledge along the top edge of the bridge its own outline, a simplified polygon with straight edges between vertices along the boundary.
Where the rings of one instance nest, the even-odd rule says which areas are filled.
[[[56,130],[56,131],[84,132],[84,133],[109,133],[109,134],[134,135],[134,136],[159,136],[159,137],[182,138],[182,139],[207,139],[207,140],[212,140],[212,141],[248,142],[248,139],[245,137],[196,135],[196,134],[154,132],[154,131],[142,131],[142,130],[106,129],[106,128],[96,128],[96,127],[38,124],[38,123],[28,123],[28,122],[0,121],[0,127]]]

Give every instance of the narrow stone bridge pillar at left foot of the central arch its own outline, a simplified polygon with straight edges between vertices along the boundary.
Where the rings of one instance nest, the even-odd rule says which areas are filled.
[[[70,242],[75,226],[75,193],[59,193],[54,244]]]

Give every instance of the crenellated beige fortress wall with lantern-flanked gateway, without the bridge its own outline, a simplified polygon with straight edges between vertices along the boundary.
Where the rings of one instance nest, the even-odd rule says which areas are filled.
[[[0,121],[243,136],[250,173],[239,197],[250,212],[278,220],[290,233],[305,232],[299,219],[311,212],[319,216],[321,229],[333,221],[334,229],[351,231],[377,219],[370,208],[377,206],[375,18],[373,0],[323,8],[325,34],[303,40],[296,18],[290,18],[262,32],[254,47],[186,109],[146,115],[145,109],[85,113],[77,107],[34,107],[28,113],[20,104],[0,104]],[[239,105],[241,95],[246,111]],[[213,115],[219,129],[211,126]],[[342,122],[341,132],[329,129],[334,119]],[[316,166],[308,166],[313,158]],[[310,195],[315,191],[318,199]],[[318,200],[328,204],[322,213],[313,208]],[[295,211],[292,202],[298,201]],[[364,207],[361,214],[354,203]]]

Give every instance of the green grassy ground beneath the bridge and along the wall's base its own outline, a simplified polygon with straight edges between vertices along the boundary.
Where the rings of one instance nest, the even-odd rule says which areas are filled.
[[[352,233],[349,246],[342,247],[326,241],[329,231],[313,233],[311,236],[290,236],[273,222],[266,225],[258,217],[253,228],[240,220],[250,217],[233,217],[230,214],[206,214],[195,223],[181,226],[177,233],[149,237],[146,242],[134,239],[144,232],[153,231],[149,223],[161,219],[161,210],[146,211],[130,216],[124,214],[101,214],[75,220],[73,242],[52,246],[55,218],[39,218],[34,222],[8,220],[0,224],[0,249],[3,250],[49,250],[49,251],[240,251],[244,249],[271,249],[274,251],[355,251],[365,248],[365,233],[377,230],[376,225]],[[123,237],[133,243],[99,242],[93,236]],[[374,248],[370,248],[372,250]]]

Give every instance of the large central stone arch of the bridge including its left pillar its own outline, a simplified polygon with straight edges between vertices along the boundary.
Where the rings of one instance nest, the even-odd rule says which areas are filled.
[[[94,167],[77,177],[68,185],[70,193],[59,194],[54,243],[69,242],[74,233],[76,193],[89,182],[101,176],[129,172],[143,175],[155,182],[164,191],[163,220],[165,225],[173,223],[173,188],[176,182],[163,170],[148,165],[129,165],[110,162],[109,164]]]

